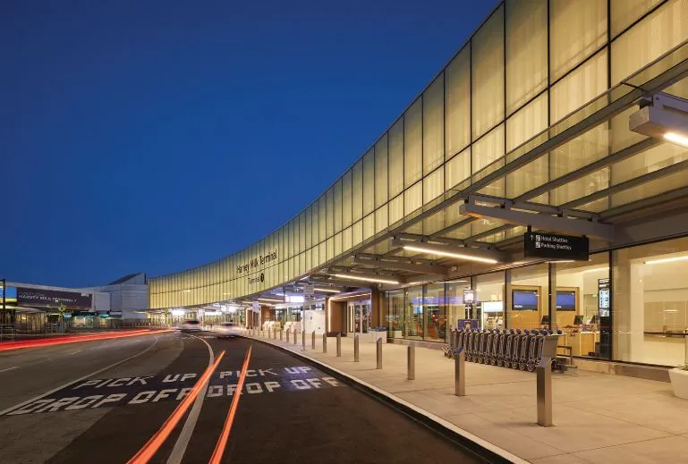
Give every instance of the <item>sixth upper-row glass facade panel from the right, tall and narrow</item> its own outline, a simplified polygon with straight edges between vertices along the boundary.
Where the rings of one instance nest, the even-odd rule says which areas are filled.
[[[440,74],[423,93],[423,175],[444,161],[445,75]]]

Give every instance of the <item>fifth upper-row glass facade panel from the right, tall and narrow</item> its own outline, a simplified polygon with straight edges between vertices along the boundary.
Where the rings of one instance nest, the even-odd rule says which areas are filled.
[[[471,143],[471,47],[463,48],[445,70],[445,155]]]

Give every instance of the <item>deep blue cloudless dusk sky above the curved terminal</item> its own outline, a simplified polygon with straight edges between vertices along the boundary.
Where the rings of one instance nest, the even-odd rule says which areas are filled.
[[[0,2],[0,277],[182,271],[344,173],[496,1]]]

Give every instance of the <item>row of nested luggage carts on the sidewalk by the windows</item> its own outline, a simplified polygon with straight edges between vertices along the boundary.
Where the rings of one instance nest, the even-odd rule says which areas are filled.
[[[538,329],[452,330],[445,356],[454,358],[458,355],[458,349],[463,347],[467,361],[533,372],[542,359],[545,336],[561,334],[561,331],[555,333]],[[565,364],[555,357],[552,359],[552,368],[564,371]]]

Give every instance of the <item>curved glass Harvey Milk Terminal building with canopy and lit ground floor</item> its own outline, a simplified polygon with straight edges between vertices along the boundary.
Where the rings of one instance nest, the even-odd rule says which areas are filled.
[[[456,45],[291,221],[150,279],[150,317],[427,343],[551,327],[582,365],[683,364],[688,0],[505,0]]]

